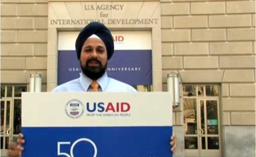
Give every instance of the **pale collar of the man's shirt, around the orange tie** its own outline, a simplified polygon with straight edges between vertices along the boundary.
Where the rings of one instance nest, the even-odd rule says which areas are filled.
[[[109,78],[107,77],[106,72],[103,74],[102,77],[100,77],[97,80],[102,91],[105,91],[108,80],[109,80]],[[83,72],[80,73],[79,81],[80,81],[80,84],[83,86],[84,91],[88,91],[88,88],[89,88],[91,82],[93,82],[93,80],[88,78]]]

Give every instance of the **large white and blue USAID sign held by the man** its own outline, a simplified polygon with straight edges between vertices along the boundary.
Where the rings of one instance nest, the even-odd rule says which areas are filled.
[[[22,133],[23,157],[171,157],[170,93],[22,93]]]

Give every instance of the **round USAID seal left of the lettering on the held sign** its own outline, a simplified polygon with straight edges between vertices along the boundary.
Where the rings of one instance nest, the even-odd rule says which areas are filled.
[[[66,103],[65,106],[66,115],[70,118],[79,118],[84,113],[84,105],[81,101],[73,99]]]

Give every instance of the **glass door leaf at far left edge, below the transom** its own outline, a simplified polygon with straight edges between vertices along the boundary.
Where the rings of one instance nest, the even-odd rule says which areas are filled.
[[[9,142],[13,135],[13,103],[12,100],[1,99],[1,156],[7,155]]]

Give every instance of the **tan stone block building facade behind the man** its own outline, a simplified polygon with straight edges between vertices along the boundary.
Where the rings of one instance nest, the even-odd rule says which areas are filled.
[[[97,5],[123,5],[125,9],[119,13],[106,8],[83,8]],[[21,103],[15,103],[20,99],[16,89],[23,86],[27,90],[30,72],[42,74],[42,91],[57,85],[58,32],[79,31],[86,24],[71,23],[75,19],[104,19],[108,21],[106,26],[116,31],[151,31],[152,91],[167,91],[167,74],[172,71],[178,72],[183,86],[183,103],[173,109],[178,142],[175,156],[255,155],[254,0],[2,0],[1,108],[3,102],[11,103],[13,112],[16,105],[20,109]],[[215,88],[217,94],[207,95],[210,88]],[[8,89],[12,89],[11,96]],[[192,92],[192,97],[186,92]],[[195,121],[197,127],[198,123],[204,124],[196,116],[186,117],[186,106],[199,106],[189,114],[202,118],[203,111],[199,110],[204,110],[210,101],[217,103],[218,120],[205,120],[209,126],[218,126],[217,149],[207,149],[211,144],[206,143],[215,137],[202,136],[206,135],[207,126],[202,134],[198,128],[193,133],[185,129],[193,129],[194,123],[189,120]],[[192,140],[186,146],[191,139],[196,142]]]

